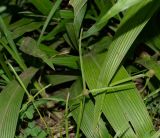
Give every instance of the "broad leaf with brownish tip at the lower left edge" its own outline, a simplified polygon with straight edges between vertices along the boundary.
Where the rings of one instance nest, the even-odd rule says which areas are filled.
[[[26,86],[36,71],[37,69],[29,68],[20,75]],[[23,95],[24,90],[16,80],[11,81],[0,93],[0,101],[3,102],[3,104],[0,104],[1,138],[14,138]]]

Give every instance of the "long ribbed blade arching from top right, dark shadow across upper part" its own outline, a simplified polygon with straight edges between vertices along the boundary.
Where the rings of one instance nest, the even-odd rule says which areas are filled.
[[[105,57],[103,67],[98,78],[98,88],[109,85],[133,42],[159,7],[159,5],[155,7],[155,3],[156,1],[145,1],[128,10]],[[151,12],[150,9],[152,8],[154,8],[154,10]],[[97,100],[94,110],[95,125],[98,123],[98,119],[101,114],[104,94],[99,95],[98,98],[99,100]]]

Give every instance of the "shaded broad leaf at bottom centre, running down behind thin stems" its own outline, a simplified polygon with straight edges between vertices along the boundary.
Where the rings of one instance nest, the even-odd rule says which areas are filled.
[[[70,98],[71,99],[80,95],[81,92],[83,91],[83,86],[81,82],[82,81],[78,79],[70,88]],[[81,102],[81,99],[77,99],[77,100],[69,102],[69,108],[70,108],[71,114],[74,120],[76,121],[76,123],[78,123],[80,102]],[[82,130],[82,132],[87,138],[99,138],[99,137],[110,138],[111,136],[109,135],[105,127],[105,124],[101,119],[99,120],[99,129],[96,129],[95,131],[93,131],[92,129],[92,122],[94,120],[93,108],[94,108],[93,102],[87,97],[86,103],[84,106],[83,117],[82,117],[80,129]]]

